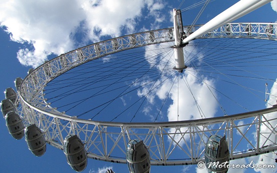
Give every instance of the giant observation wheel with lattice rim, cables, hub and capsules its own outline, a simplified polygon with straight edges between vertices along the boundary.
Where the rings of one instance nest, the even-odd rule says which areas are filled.
[[[9,132],[21,139],[25,129],[36,156],[46,143],[63,150],[76,171],[87,158],[136,164],[135,148],[147,150],[149,170],[196,165],[219,135],[228,160],[277,150],[277,106],[257,106],[265,83],[276,83],[277,23],[230,23],[269,1],[238,2],[205,25],[183,26],[174,9],[172,28],[97,42],[29,70],[1,104]]]

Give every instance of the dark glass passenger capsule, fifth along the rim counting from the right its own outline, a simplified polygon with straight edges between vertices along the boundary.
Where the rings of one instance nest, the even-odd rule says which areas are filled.
[[[14,112],[10,111],[6,114],[6,126],[9,131],[9,134],[17,139],[20,140],[24,136],[24,125],[22,119],[19,115]]]

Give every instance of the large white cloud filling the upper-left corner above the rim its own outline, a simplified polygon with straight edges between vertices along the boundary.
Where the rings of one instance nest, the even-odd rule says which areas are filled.
[[[33,50],[22,48],[17,52],[21,64],[33,67],[47,55],[73,48],[69,35],[83,17],[74,1],[8,0],[0,6],[0,23],[7,27],[11,40],[33,46]]]

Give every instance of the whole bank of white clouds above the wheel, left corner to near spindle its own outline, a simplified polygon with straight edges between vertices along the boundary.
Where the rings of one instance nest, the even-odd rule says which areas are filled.
[[[141,18],[159,23],[163,0],[1,0],[0,26],[12,41],[25,43],[19,62],[37,67],[51,54],[59,55],[103,36],[131,33]],[[142,16],[142,10],[147,16]]]

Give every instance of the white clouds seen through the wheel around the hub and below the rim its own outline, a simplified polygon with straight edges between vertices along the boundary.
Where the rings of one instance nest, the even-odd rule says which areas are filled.
[[[193,44],[188,51],[197,51]],[[155,64],[154,68],[157,68],[160,72],[163,71],[164,64],[170,61],[168,64],[171,64],[173,70],[175,64],[174,54],[169,50],[164,50],[165,45],[152,45],[146,47],[145,57],[150,64]],[[169,47],[169,46],[168,46]],[[167,54],[152,56],[149,58],[147,52],[151,50],[164,50]],[[172,51],[172,49],[171,49]],[[194,54],[194,52],[191,52]],[[201,53],[198,54],[202,56]],[[196,56],[198,56],[196,55]],[[163,59],[163,61],[161,61]],[[161,64],[160,64],[161,63]],[[151,66],[153,67],[153,66]],[[213,88],[216,88],[216,81],[214,79],[208,78],[207,76],[197,73],[193,68],[186,69],[183,73],[175,71],[175,74],[168,78],[164,76],[158,81],[155,85],[145,86],[142,89],[138,90],[137,95],[142,97],[149,93],[151,88],[155,88],[153,92],[150,92],[147,96],[148,104],[145,104],[144,113],[152,118],[153,116],[149,115],[153,105],[158,103],[163,103],[165,99],[170,100],[167,102],[167,109],[164,110],[163,115],[167,115],[167,121],[182,121],[182,120],[194,120],[214,117],[217,108],[217,94]],[[179,79],[176,77],[178,76]],[[179,81],[179,84],[178,84]],[[147,81],[144,81],[147,83]],[[179,88],[179,89],[178,89]],[[182,136],[180,133],[187,131],[187,128],[180,129],[169,129],[169,133],[177,135],[171,135],[168,137],[169,141],[179,142],[179,145],[184,145],[185,140],[189,139],[189,135]],[[181,140],[182,139],[182,140]]]

